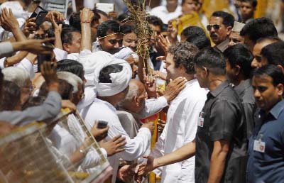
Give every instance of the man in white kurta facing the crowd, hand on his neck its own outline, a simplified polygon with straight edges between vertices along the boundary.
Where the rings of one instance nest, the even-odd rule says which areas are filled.
[[[168,52],[165,61],[168,76],[171,79],[186,77],[189,81],[185,89],[170,103],[165,128],[151,151],[153,157],[172,153],[195,139],[198,116],[207,94],[206,90],[200,88],[197,79],[194,79],[194,68],[190,67],[196,52],[197,48],[190,43],[180,43],[171,47]],[[195,182],[195,157],[163,167],[161,176],[163,183]]]

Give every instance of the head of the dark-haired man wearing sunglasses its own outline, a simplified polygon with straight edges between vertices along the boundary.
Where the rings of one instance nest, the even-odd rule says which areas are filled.
[[[224,11],[215,11],[209,20],[207,30],[216,47],[224,52],[229,45],[229,35],[234,26],[234,16]]]

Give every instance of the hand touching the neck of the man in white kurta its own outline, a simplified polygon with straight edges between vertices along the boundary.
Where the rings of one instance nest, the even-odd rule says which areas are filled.
[[[170,82],[165,87],[165,94],[163,95],[167,99],[168,103],[173,101],[176,96],[182,91],[186,86],[187,79],[184,77],[177,77],[175,80],[170,79]]]

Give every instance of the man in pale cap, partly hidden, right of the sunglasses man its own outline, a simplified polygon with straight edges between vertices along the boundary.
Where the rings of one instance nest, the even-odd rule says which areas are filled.
[[[241,29],[244,27],[244,23],[234,22],[234,27],[229,35],[229,46],[244,43],[244,37],[240,35]]]

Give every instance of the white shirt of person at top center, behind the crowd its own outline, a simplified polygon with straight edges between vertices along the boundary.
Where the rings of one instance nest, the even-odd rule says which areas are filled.
[[[168,12],[166,6],[157,6],[150,11],[150,14],[158,16],[163,23],[168,24],[168,21],[178,18],[182,14],[182,7],[178,5],[174,12]]]

